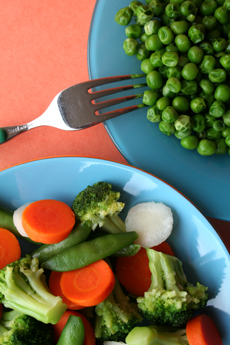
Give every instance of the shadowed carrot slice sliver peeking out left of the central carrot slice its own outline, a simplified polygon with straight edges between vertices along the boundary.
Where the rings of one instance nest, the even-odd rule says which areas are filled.
[[[62,297],[62,301],[67,305],[67,309],[71,309],[71,310],[82,309],[83,308],[82,306],[70,301],[68,298],[65,297],[65,295],[63,295],[61,285],[60,285],[61,276],[62,276],[62,272],[56,272],[56,271],[51,272],[50,277],[49,277],[49,288],[50,288],[51,293],[54,296]]]

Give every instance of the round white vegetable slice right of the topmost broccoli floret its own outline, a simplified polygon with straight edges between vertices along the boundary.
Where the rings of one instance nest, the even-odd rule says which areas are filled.
[[[145,202],[132,207],[125,219],[126,231],[136,231],[135,241],[144,248],[157,246],[165,241],[173,229],[171,208],[162,202]]]

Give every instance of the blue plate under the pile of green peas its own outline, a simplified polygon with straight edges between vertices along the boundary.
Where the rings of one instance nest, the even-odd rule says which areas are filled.
[[[125,28],[116,24],[117,11],[131,0],[98,0],[88,45],[91,79],[140,73],[136,57],[124,53]],[[146,119],[146,108],[105,123],[126,160],[170,183],[213,218],[230,221],[230,156],[202,157],[185,150]]]

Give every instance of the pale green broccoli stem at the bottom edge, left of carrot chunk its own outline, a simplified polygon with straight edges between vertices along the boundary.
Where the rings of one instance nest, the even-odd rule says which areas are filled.
[[[127,345],[188,345],[186,329],[171,330],[166,327],[135,327],[127,335]]]

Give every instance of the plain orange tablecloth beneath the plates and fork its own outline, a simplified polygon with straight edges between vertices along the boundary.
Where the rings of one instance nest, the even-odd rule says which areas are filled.
[[[0,127],[42,114],[62,89],[88,80],[87,42],[96,0],[0,0]],[[126,163],[103,125],[65,132],[40,127],[0,146],[0,170],[47,156]],[[230,248],[230,223],[211,220]]]

